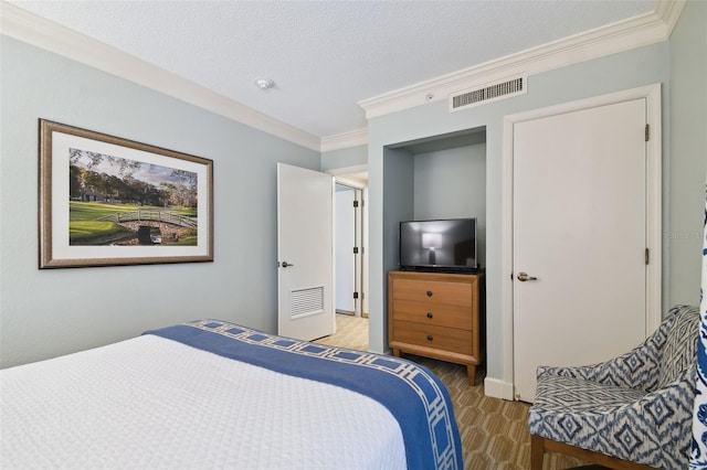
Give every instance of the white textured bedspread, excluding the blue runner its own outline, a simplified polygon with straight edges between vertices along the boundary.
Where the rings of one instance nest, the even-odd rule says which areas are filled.
[[[0,371],[0,424],[2,469],[405,468],[378,402],[155,335]]]

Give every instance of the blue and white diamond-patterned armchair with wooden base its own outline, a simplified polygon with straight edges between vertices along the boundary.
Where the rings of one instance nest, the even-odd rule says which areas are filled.
[[[538,367],[531,468],[557,451],[614,469],[687,468],[699,312],[676,306],[633,351],[580,367]]]

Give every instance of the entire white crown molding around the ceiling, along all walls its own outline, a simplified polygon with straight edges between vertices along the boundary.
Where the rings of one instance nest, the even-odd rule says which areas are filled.
[[[520,73],[528,75],[665,41],[686,0],[658,0],[655,11],[464,68],[359,102],[368,119],[439,100]],[[0,34],[137,83],[319,152],[368,143],[357,129],[319,139],[103,42],[0,0]]]

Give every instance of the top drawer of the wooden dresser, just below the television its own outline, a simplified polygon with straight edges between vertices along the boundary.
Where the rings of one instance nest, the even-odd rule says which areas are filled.
[[[472,286],[467,282],[395,279],[393,296],[395,300],[411,300],[425,305],[472,307]]]

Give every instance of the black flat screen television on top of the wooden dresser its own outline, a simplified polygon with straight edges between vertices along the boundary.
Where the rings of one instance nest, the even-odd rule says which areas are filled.
[[[476,218],[401,222],[399,248],[403,270],[478,270]]]

